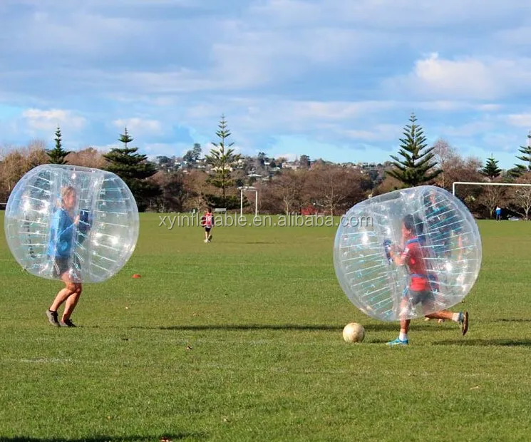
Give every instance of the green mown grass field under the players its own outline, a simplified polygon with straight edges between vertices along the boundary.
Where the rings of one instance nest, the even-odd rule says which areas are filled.
[[[48,324],[61,285],[22,272],[2,230],[1,441],[530,440],[531,223],[479,223],[466,336],[419,319],[398,349],[398,324],[341,291],[336,227],[223,227],[205,244],[159,224],[141,215],[76,329]],[[362,344],[341,338],[351,321]]]

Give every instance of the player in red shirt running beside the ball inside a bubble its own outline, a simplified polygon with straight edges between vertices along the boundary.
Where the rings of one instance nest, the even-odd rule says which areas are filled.
[[[391,258],[393,262],[400,266],[405,266],[408,270],[408,287],[404,290],[401,300],[401,311],[403,314],[408,312],[410,305],[422,304],[423,311],[428,312],[433,309],[435,302],[435,293],[433,286],[428,277],[428,269],[424,260],[424,253],[419,236],[423,234],[422,222],[418,217],[406,215],[402,222],[402,239],[403,250],[397,247],[391,247]],[[461,326],[463,336],[468,331],[468,312],[454,313],[449,310],[441,310],[431,314],[426,314],[430,319],[448,319],[457,322]],[[400,334],[398,338],[389,341],[387,344],[408,345],[408,331],[411,319],[401,319]]]

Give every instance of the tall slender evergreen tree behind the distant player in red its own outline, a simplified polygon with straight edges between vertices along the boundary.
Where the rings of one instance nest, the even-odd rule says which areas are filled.
[[[222,115],[218,130],[216,132],[217,143],[212,143],[215,148],[210,150],[210,155],[205,155],[207,163],[212,165],[214,174],[208,179],[208,183],[221,189],[222,195],[220,199],[214,197],[214,195],[206,195],[212,205],[222,205],[223,207],[232,208],[232,205],[237,205],[237,201],[232,198],[227,198],[227,189],[235,185],[235,180],[232,179],[231,166],[239,160],[242,155],[234,153],[232,146],[234,143],[227,143],[227,139],[230,137],[230,130],[227,128],[227,121],[225,115]],[[230,206],[230,207],[227,207]]]

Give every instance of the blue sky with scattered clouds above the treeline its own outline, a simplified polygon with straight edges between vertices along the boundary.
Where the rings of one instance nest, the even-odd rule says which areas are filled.
[[[1,0],[0,145],[383,162],[428,141],[512,167],[531,130],[528,0]]]

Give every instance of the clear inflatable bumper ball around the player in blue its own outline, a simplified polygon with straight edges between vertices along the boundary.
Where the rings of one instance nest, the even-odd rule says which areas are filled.
[[[103,282],[128,262],[138,208],[117,175],[73,165],[40,165],[6,205],[5,234],[27,272],[46,279]]]

